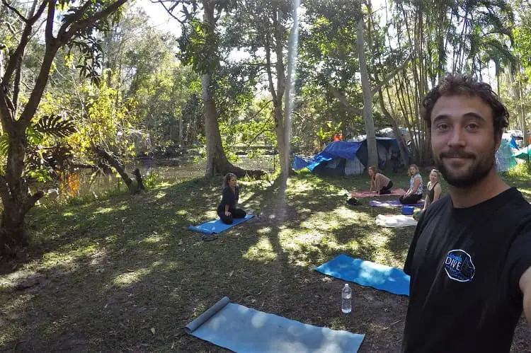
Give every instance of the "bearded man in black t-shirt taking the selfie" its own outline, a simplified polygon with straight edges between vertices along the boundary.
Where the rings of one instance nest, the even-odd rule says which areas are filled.
[[[402,351],[509,352],[522,311],[531,320],[531,205],[495,168],[509,114],[462,75],[442,79],[423,108],[448,195],[423,213],[406,258]]]

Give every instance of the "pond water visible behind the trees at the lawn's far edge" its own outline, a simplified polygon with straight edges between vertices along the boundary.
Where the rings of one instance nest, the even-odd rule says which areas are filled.
[[[241,156],[241,161],[234,163],[245,169],[261,169],[273,173],[279,168],[278,156],[258,156],[249,158]],[[164,160],[138,160],[127,165],[126,171],[132,177],[132,171],[139,168],[142,178],[153,178],[158,183],[175,183],[176,180],[200,178],[205,175],[205,158],[172,158]],[[151,177],[149,176],[151,175]],[[96,197],[111,190],[126,190],[122,178],[115,173],[111,175],[93,175],[91,170],[79,170],[65,176],[57,187],[48,188],[50,197],[45,197],[41,202],[50,199],[64,199],[68,197]]]

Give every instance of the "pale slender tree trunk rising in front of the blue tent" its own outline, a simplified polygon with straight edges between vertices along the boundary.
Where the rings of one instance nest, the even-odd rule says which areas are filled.
[[[358,57],[360,60],[361,88],[363,92],[363,121],[365,122],[365,132],[367,134],[367,166],[378,167],[375,121],[372,119],[372,93],[370,91],[369,74],[367,73],[367,61],[365,59],[363,40],[363,16],[360,16],[357,27],[356,47],[358,47]]]

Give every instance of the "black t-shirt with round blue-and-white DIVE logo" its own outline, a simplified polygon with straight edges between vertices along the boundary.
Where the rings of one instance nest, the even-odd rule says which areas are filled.
[[[509,352],[530,266],[531,205],[518,190],[460,209],[442,197],[423,212],[404,265],[402,351]]]

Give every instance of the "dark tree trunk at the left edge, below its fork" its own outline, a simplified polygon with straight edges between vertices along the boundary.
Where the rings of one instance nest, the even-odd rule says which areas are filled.
[[[23,178],[26,138],[25,129],[16,122],[9,124],[8,163],[5,177],[0,176],[0,197],[4,205],[0,223],[0,254],[13,255],[16,248],[26,245],[24,218],[44,193],[30,194],[27,180]]]

